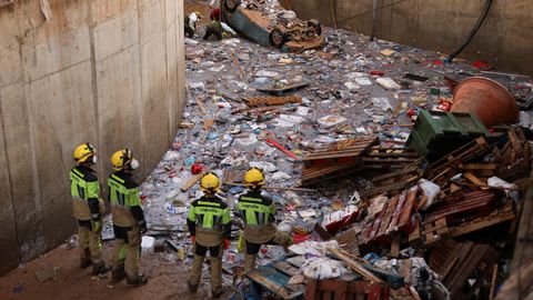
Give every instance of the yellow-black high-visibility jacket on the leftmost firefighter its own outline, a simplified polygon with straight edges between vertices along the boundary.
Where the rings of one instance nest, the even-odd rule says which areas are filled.
[[[100,218],[100,184],[94,170],[77,166],[70,170],[70,193],[73,216],[80,221]]]

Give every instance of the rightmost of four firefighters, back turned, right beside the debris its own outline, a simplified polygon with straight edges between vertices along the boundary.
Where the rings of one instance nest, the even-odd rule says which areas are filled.
[[[262,244],[274,243],[286,249],[292,244],[292,238],[286,232],[278,231],[273,224],[274,202],[261,194],[261,187],[264,184],[263,171],[259,168],[250,168],[244,173],[244,184],[249,191],[239,197],[235,209],[237,214],[244,221],[243,238],[247,249],[244,272],[248,272],[255,268],[255,259]]]

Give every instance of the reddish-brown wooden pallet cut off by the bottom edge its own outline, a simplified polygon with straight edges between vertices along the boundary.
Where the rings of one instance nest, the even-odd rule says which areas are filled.
[[[389,299],[389,287],[370,281],[309,279],[304,298],[305,300],[386,300]]]

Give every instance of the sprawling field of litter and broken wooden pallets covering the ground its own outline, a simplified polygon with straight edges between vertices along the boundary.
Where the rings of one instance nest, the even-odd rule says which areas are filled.
[[[190,263],[185,219],[201,196],[201,172],[222,178],[220,197],[232,208],[244,192],[243,172],[258,167],[266,174],[263,192],[279,209],[278,229],[291,232],[294,244],[288,256],[263,246],[261,267],[245,276],[254,284],[234,280],[243,259],[234,218],[223,268],[225,284],[239,292],[258,293],[258,283],[283,299],[320,299],[331,287],[381,299],[459,299],[501,283],[494,273],[506,272],[520,179],[531,169],[530,132],[445,128],[419,147],[410,136],[416,119],[450,116],[434,112],[453,104],[450,78],[490,77],[516,99],[533,98],[533,81],[444,64],[438,53],[343,30],[324,32],[322,50],[300,53],[244,39],[188,42],[181,130],[141,187],[154,251],[164,241]],[[522,111],[521,121],[531,126],[529,116]]]

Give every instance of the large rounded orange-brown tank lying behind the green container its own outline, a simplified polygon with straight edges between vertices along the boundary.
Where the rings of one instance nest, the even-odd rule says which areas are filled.
[[[451,111],[475,113],[485,127],[519,120],[514,97],[502,84],[483,77],[471,77],[455,88]]]

